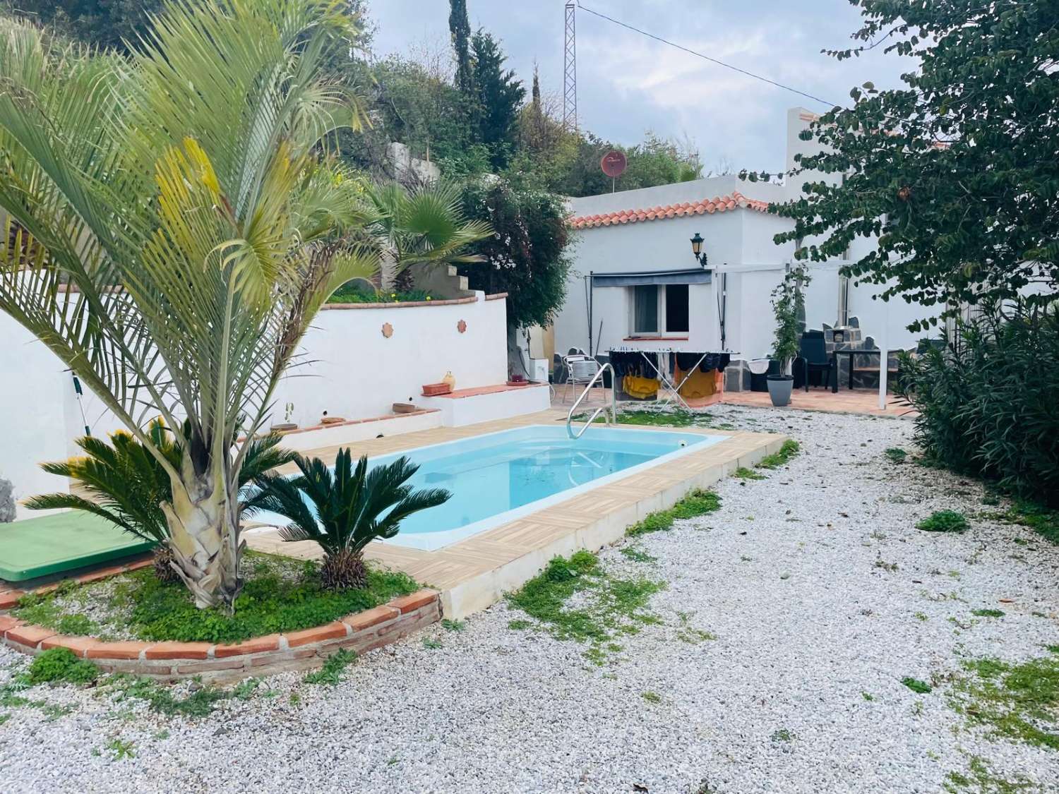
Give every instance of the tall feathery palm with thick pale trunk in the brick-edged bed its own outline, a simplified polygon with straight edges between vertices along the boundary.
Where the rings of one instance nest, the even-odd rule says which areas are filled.
[[[168,476],[200,607],[241,587],[251,448],[232,439],[266,422],[320,305],[378,272],[373,213],[326,146],[361,122],[324,72],[355,33],[335,0],[172,0],[126,59],[0,21],[0,309]]]

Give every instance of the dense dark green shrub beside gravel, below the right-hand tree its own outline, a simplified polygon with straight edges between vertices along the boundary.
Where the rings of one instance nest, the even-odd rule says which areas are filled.
[[[902,357],[916,440],[959,473],[1059,506],[1059,304],[989,312],[945,341]]]

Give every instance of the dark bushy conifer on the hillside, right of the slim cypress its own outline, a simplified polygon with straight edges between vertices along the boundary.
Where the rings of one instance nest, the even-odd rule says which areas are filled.
[[[474,95],[478,98],[479,142],[489,147],[492,164],[502,168],[511,157],[519,106],[526,95],[514,70],[504,69],[507,56],[492,34],[479,30],[474,53]]]

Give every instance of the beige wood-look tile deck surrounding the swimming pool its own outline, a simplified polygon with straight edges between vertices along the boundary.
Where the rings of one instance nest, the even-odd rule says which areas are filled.
[[[383,455],[527,425],[564,422],[566,419],[566,411],[551,410],[462,428],[434,428],[372,438],[348,446],[356,455]],[[665,429],[618,427],[636,431]],[[710,487],[740,466],[753,466],[765,455],[777,451],[786,439],[786,436],[771,433],[712,428],[679,430],[726,438],[435,552],[373,542],[365,556],[439,590],[445,616],[464,617],[489,607],[505,592],[533,578],[555,555],[569,555],[579,548],[595,551],[614,543],[625,535],[626,527],[647,513],[670,507],[689,489]],[[328,459],[335,457],[338,449],[337,446],[324,447],[310,450],[309,454]],[[251,548],[259,552],[302,559],[322,556],[316,543],[285,543],[275,530],[249,533],[244,537]]]

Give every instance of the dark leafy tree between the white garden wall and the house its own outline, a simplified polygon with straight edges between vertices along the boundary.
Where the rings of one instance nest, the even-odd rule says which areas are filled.
[[[510,327],[550,325],[562,307],[570,272],[562,199],[486,178],[469,181],[463,201],[470,217],[493,229],[491,236],[471,246],[482,263],[461,268],[470,287],[506,292]]]

